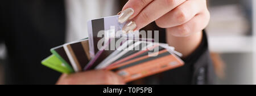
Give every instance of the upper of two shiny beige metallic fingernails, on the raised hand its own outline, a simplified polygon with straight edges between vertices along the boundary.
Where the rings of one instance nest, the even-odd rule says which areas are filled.
[[[126,10],[123,10],[118,18],[119,23],[124,23],[127,21],[131,15],[134,14],[133,8],[127,8]]]

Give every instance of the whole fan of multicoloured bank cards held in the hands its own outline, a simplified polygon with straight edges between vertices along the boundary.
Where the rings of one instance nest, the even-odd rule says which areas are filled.
[[[89,38],[52,48],[52,55],[42,64],[67,74],[106,69],[122,76],[126,82],[184,65],[179,58],[181,54],[166,43],[122,31],[116,35],[123,25],[125,23],[118,23],[118,15],[89,20]]]

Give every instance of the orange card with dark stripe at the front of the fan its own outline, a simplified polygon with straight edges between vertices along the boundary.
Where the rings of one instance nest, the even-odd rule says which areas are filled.
[[[125,82],[130,82],[184,65],[183,60],[166,49],[152,55],[154,54],[158,54],[158,56],[142,56],[107,69],[124,77]]]

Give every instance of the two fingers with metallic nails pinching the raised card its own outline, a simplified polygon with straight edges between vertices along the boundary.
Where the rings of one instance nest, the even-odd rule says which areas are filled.
[[[130,20],[123,30],[126,32],[129,30],[139,30],[146,25],[150,24],[162,17],[167,12],[170,12],[177,6],[184,3],[186,0],[166,0],[166,1],[150,1],[131,0],[123,7],[121,15],[119,16],[119,23],[122,21]],[[140,5],[140,6],[136,6]],[[133,15],[130,15],[133,14]]]

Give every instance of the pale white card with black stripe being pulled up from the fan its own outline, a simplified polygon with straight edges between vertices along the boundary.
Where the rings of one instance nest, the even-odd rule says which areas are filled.
[[[109,16],[100,19],[89,20],[88,25],[88,36],[89,36],[89,46],[90,55],[94,58],[95,54],[98,52],[97,43],[104,36],[108,40],[108,37],[113,37],[118,30],[122,30],[123,25],[126,23],[118,23],[119,15]],[[104,34],[102,31],[105,31]]]

